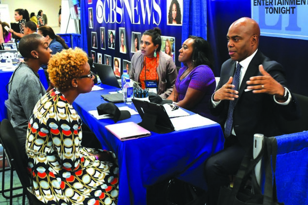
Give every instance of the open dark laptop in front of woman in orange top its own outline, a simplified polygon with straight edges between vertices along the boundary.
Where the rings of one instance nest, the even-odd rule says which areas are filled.
[[[118,80],[116,79],[113,69],[110,65],[100,64],[100,63],[93,63],[95,70],[99,76],[101,83],[113,86],[116,88],[121,88],[119,85]]]

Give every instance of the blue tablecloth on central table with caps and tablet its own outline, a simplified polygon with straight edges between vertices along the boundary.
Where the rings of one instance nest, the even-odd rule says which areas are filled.
[[[118,205],[145,205],[146,188],[172,176],[206,189],[203,163],[223,148],[224,137],[219,124],[166,134],[151,132],[149,137],[122,142],[104,128],[114,123],[112,119],[97,120],[88,113],[96,110],[100,103],[106,103],[101,94],[117,89],[106,85],[102,87],[105,89],[79,95],[73,106],[102,146],[118,157]],[[117,105],[125,106],[124,103]],[[133,104],[129,107],[134,108]],[[141,117],[133,115],[117,123],[128,121],[138,123]],[[82,140],[86,140],[86,136]]]

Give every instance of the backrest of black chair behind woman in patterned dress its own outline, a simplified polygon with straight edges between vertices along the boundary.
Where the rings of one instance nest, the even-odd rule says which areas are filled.
[[[20,150],[19,142],[11,122],[3,119],[0,124],[0,139],[10,164],[16,170],[23,188],[31,187],[30,177],[27,174],[26,153]]]

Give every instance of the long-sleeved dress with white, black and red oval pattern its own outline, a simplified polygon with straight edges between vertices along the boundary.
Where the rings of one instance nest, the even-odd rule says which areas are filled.
[[[52,89],[36,103],[27,132],[32,192],[40,201],[48,205],[117,203],[117,165],[90,156],[103,150],[81,147],[81,139],[81,118],[65,96]]]

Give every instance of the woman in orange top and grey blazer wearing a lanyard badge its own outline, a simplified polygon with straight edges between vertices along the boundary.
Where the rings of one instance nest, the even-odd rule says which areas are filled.
[[[174,88],[178,72],[173,59],[161,51],[161,35],[159,28],[143,33],[140,50],[131,58],[130,79],[140,83],[143,89],[155,89],[166,99]]]

